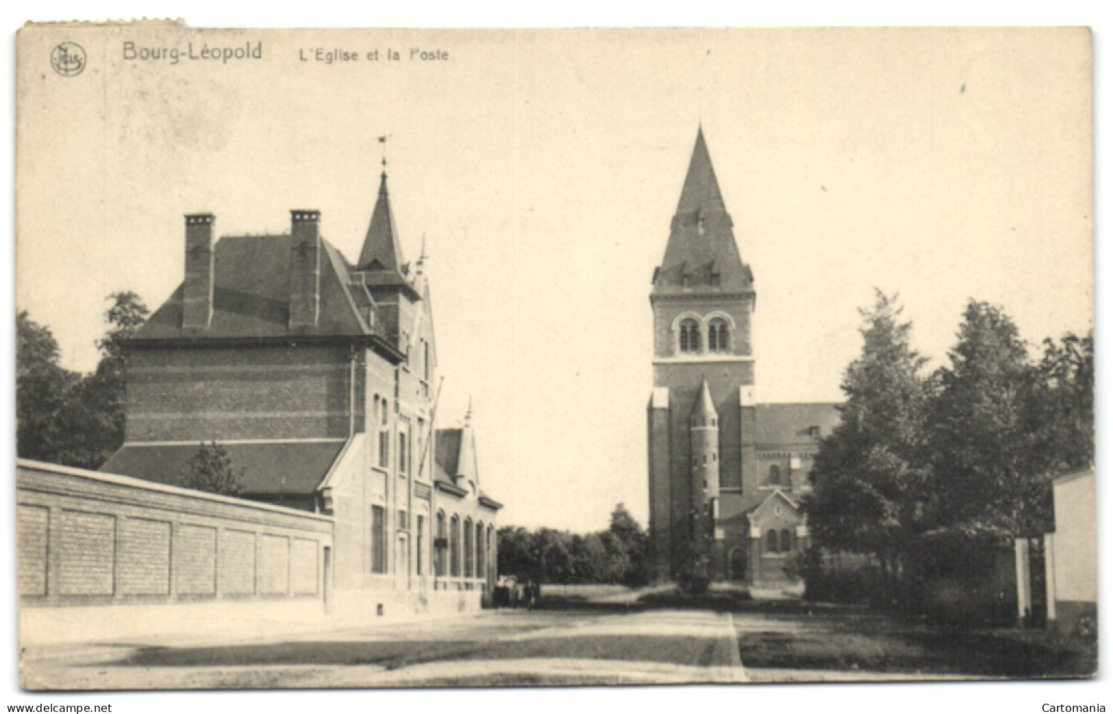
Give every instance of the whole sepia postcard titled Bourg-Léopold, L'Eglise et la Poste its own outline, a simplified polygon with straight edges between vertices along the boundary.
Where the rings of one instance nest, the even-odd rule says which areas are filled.
[[[1093,42],[28,23],[9,675],[1095,677]]]

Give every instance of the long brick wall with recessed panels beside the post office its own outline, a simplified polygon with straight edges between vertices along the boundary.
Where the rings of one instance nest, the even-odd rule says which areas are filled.
[[[333,519],[20,459],[24,605],[324,595]]]

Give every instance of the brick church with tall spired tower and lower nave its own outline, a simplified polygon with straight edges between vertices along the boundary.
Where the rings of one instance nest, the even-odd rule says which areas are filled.
[[[653,272],[650,541],[657,579],[689,569],[750,586],[790,584],[807,546],[799,498],[835,404],[758,404],[754,272],[733,234],[703,131],[664,259]]]

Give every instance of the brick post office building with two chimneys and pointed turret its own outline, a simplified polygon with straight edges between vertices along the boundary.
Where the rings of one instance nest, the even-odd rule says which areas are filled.
[[[130,340],[126,440],[101,470],[183,486],[215,440],[242,497],[331,517],[339,608],[436,591],[477,604],[501,504],[482,488],[471,414],[436,428],[426,258],[403,259],[386,173],[355,264],[319,211],[289,220],[217,240],[214,216],[186,216],[185,280]]]

